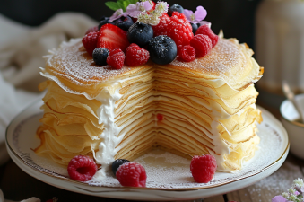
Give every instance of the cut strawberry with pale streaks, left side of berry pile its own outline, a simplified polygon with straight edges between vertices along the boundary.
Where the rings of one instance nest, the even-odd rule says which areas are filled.
[[[100,28],[100,36],[97,48],[107,48],[109,51],[120,48],[124,52],[130,45],[126,37],[126,31],[113,24],[105,24]]]

